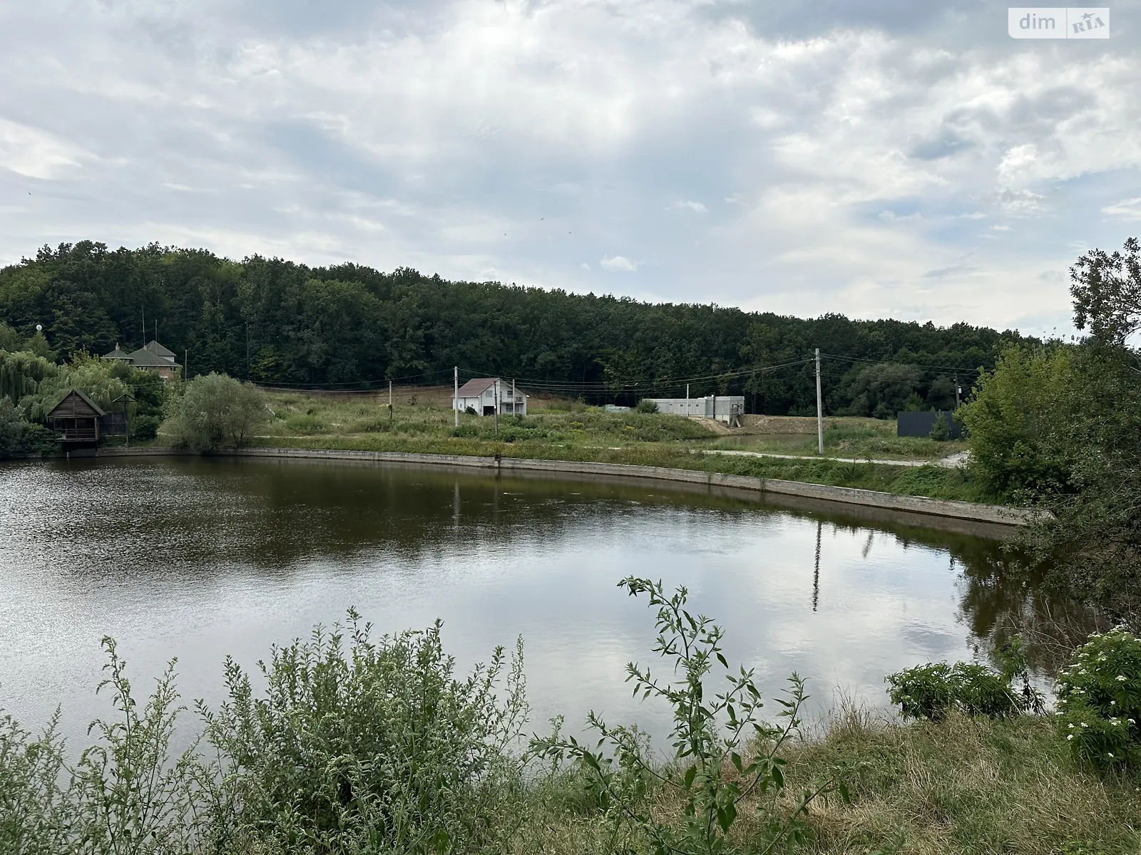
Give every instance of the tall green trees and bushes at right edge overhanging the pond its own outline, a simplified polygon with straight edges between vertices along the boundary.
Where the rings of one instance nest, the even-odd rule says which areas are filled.
[[[1021,538],[1050,584],[1141,620],[1141,246],[1071,269],[1076,345],[1012,348],[962,410],[971,472],[1053,513]]]

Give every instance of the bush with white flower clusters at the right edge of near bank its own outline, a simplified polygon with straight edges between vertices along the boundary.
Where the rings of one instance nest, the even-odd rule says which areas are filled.
[[[1079,759],[1141,760],[1141,638],[1122,627],[1091,635],[1058,675],[1058,722]]]

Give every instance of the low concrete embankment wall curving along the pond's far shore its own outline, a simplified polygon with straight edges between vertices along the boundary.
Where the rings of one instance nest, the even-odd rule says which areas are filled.
[[[184,454],[172,449],[100,449],[100,457],[164,456]],[[503,473],[548,472],[584,475],[613,475],[621,478],[648,478],[656,481],[674,481],[710,488],[733,488],[774,496],[793,496],[820,502],[837,502],[900,511],[911,514],[970,520],[998,526],[1026,526],[1038,518],[1041,511],[998,505],[979,505],[971,502],[899,496],[877,490],[859,490],[851,487],[828,487],[826,484],[783,481],[751,475],[725,475],[719,472],[701,472],[661,466],[637,466],[622,463],[586,463],[578,461],[534,461],[518,457],[471,457],[450,454],[408,454],[403,451],[340,451],[300,448],[243,448],[219,453],[227,457],[261,457],[270,459],[326,459],[358,461],[390,464],[452,466],[480,470],[496,470]]]

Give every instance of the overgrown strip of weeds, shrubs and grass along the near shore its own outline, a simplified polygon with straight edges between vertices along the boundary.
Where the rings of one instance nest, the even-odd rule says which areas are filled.
[[[597,743],[564,735],[559,722],[527,748],[521,642],[460,677],[439,624],[375,638],[351,610],[346,627],[275,648],[259,665],[260,689],[227,660],[228,699],[217,710],[197,705],[202,735],[176,754],[185,708],[175,663],[138,700],[107,638],[99,691],[115,716],[92,725],[97,742],[78,759],[55,718],[33,735],[0,715],[0,852],[1124,855],[1141,846],[1135,746],[1107,769],[1066,739],[1076,717],[1095,726],[1087,710],[1111,723],[1108,701],[1136,706],[1135,637],[1095,636],[1077,652],[1068,673],[1079,677],[1062,700],[1081,711],[971,701],[903,725],[848,708],[812,733],[800,720],[803,681],[793,675],[778,699],[778,724],[766,720],[753,673],[730,667],[722,630],[690,614],[683,588],[621,585],[657,611],[666,670],[631,663],[628,676],[636,694],[672,709],[666,757],[637,727],[594,715]],[[1010,667],[992,677],[1009,689],[1003,675],[1019,651],[1006,656]],[[1115,670],[1108,694],[1076,700]]]

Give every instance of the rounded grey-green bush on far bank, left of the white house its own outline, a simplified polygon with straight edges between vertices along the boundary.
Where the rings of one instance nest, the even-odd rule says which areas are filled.
[[[168,430],[173,443],[195,451],[238,448],[269,418],[261,392],[225,374],[201,374],[169,402]]]

